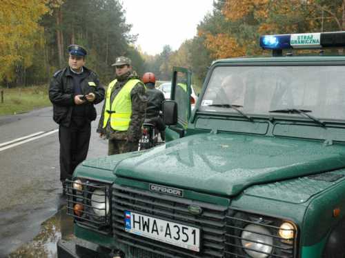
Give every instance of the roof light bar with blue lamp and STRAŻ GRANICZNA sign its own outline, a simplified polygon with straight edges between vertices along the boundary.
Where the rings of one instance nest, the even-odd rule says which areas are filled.
[[[345,47],[345,31],[264,35],[260,37],[260,47],[270,50]]]

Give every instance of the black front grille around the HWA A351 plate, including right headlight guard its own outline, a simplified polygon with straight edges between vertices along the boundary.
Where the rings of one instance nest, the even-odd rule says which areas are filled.
[[[201,207],[204,212],[201,215],[191,215],[188,212],[188,206],[191,204]],[[200,252],[193,252],[126,232],[124,226],[126,210],[200,228]],[[232,210],[225,206],[161,195],[146,190],[117,185],[112,188],[114,235],[117,241],[129,247],[132,257],[136,258],[248,258],[250,257],[248,253],[255,251],[253,244],[262,243],[243,238],[243,232],[266,235],[271,239],[271,244],[264,245],[269,249],[266,257],[295,258],[297,257],[297,228],[293,229],[292,239],[283,239],[279,237],[279,228],[284,222],[286,222],[284,219]],[[248,227],[248,225],[251,226]],[[264,230],[257,231],[257,226]],[[265,254],[265,252],[261,253]]]

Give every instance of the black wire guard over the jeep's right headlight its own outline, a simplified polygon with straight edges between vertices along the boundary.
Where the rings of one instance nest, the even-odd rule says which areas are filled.
[[[286,222],[284,219],[266,217],[248,212],[229,212],[226,216],[226,254],[228,257],[248,257],[248,252],[253,252],[253,244],[262,244],[253,239],[242,237],[243,232],[250,232],[272,239],[271,244],[266,244],[266,248],[271,252],[262,253],[267,257],[293,258],[296,257],[297,229],[293,230],[293,238],[283,239],[279,236],[280,226]],[[264,232],[259,232],[257,228],[264,228]],[[247,228],[246,228],[247,227]],[[244,230],[246,228],[246,230]],[[246,246],[242,244],[246,242]]]

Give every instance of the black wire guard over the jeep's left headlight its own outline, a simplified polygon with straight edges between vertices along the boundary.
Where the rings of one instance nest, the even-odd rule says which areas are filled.
[[[110,201],[110,186],[99,182],[81,181],[75,183],[75,186],[81,187],[81,190],[73,187],[74,181],[66,180],[66,195],[67,195],[67,214],[74,217],[77,224],[93,228],[101,233],[111,232],[111,212],[106,211],[111,208]],[[105,194],[103,194],[103,192]],[[92,199],[92,195],[96,199]],[[108,198],[107,198],[108,197]],[[92,204],[103,204],[103,208],[92,207]],[[83,206],[81,212],[76,212],[75,206]]]

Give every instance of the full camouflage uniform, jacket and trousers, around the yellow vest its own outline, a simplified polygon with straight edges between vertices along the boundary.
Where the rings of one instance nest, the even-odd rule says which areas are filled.
[[[110,103],[114,101],[117,94],[122,87],[130,79],[139,79],[137,72],[130,71],[121,77],[116,77],[117,83],[112,88]],[[130,92],[130,98],[132,101],[132,115],[130,117],[130,125],[127,131],[116,131],[110,126],[110,119],[103,128],[104,109],[106,103],[104,102],[101,119],[99,119],[99,126],[97,132],[101,132],[106,135],[108,142],[108,155],[115,155],[124,152],[135,151],[138,149],[139,138],[141,137],[141,125],[144,122],[145,110],[146,110],[146,92],[143,83],[137,83]]]

